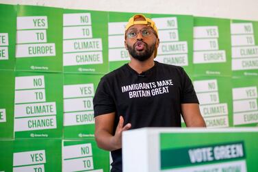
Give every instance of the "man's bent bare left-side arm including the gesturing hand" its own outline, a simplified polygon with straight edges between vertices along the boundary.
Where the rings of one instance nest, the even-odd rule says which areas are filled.
[[[130,123],[124,125],[122,116],[119,118],[116,133],[113,135],[115,112],[109,114],[101,114],[95,117],[95,139],[96,143],[101,149],[107,151],[114,151],[122,148],[122,132],[129,130]]]

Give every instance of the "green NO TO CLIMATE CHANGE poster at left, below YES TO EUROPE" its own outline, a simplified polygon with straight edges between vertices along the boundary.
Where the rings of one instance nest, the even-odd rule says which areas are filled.
[[[61,138],[62,73],[16,72],[15,138]]]

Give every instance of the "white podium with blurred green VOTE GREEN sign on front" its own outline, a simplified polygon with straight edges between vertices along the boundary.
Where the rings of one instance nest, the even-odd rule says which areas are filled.
[[[257,157],[257,127],[146,127],[122,133],[123,172],[258,171]]]

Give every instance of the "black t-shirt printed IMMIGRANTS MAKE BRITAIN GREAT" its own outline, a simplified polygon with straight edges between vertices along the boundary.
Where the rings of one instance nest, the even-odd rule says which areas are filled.
[[[131,129],[181,127],[181,103],[198,103],[194,87],[182,67],[155,62],[141,74],[129,64],[101,78],[93,99],[94,116],[116,112]],[[112,171],[122,171],[122,151],[112,151]]]

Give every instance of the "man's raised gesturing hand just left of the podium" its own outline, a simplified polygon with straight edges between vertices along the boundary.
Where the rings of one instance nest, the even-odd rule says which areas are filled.
[[[122,132],[129,130],[131,128],[131,123],[127,123],[127,125],[124,125],[124,118],[122,116],[119,117],[119,122],[116,127],[116,133],[112,138],[112,144],[116,147],[116,149],[122,148]]]

